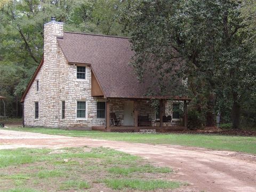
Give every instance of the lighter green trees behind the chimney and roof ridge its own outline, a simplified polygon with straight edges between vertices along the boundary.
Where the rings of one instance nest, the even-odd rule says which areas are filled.
[[[100,6],[100,0],[0,2],[0,95],[7,97],[7,115],[21,115],[19,100],[42,59],[43,27],[50,16],[65,22],[65,31],[121,34],[115,21],[121,3],[103,2],[108,9]]]

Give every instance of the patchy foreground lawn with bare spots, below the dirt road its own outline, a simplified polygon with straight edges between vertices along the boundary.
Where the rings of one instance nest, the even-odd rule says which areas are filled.
[[[0,190],[170,191],[172,170],[108,148],[0,150]]]

